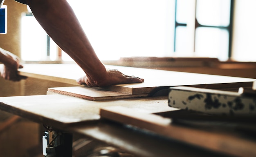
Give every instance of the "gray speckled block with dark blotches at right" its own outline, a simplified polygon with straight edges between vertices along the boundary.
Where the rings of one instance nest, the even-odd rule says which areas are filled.
[[[170,87],[168,105],[213,115],[254,115],[256,96],[185,86]]]

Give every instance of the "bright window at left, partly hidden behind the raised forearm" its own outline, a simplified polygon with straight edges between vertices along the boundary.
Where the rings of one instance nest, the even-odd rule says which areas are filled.
[[[34,16],[26,13],[21,20],[22,60],[58,60],[58,46],[49,38]]]

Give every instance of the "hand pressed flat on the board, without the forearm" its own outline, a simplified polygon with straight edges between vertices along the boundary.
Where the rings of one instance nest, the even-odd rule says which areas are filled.
[[[142,83],[144,79],[135,76],[124,75],[117,69],[106,69],[107,75],[101,82],[95,82],[90,76],[84,75],[76,80],[78,84],[86,84],[90,87],[110,86],[112,84]]]

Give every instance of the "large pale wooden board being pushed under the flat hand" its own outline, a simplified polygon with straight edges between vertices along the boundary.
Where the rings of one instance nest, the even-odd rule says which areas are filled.
[[[170,86],[195,86],[200,88],[231,88],[252,86],[255,79],[242,77],[229,77],[219,75],[206,75],[176,71],[163,71],[154,69],[131,68],[124,66],[109,66],[109,69],[118,69],[126,75],[135,75],[144,78],[139,84],[117,84],[106,88],[128,94],[153,94],[155,91]],[[19,69],[20,75],[44,80],[52,80],[77,85],[76,79],[83,76],[84,72],[76,64],[25,64]]]

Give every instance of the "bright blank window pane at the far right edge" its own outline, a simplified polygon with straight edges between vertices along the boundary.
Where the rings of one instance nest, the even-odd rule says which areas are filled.
[[[256,61],[256,1],[236,0],[234,41],[232,58],[240,61]]]

